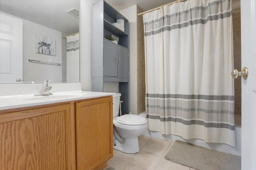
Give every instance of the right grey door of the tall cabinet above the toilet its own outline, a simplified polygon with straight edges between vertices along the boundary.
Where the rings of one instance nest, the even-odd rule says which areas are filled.
[[[118,77],[128,78],[128,49],[118,45]]]

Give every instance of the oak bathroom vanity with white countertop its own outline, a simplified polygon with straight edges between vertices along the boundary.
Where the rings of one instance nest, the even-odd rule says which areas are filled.
[[[0,169],[103,169],[113,156],[110,93],[1,95],[0,102]]]

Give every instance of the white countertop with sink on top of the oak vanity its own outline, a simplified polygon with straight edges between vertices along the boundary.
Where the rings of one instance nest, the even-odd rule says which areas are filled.
[[[1,91],[6,90],[1,86]],[[40,89],[38,89],[40,91]],[[114,93],[104,93],[104,92],[85,92],[82,90],[75,89],[76,91],[63,91],[63,92],[54,92],[50,91],[53,94],[48,96],[34,96],[33,94],[12,94],[1,95],[0,96],[0,110],[4,109],[14,109],[20,107],[29,107],[29,106],[39,106],[44,104],[54,104],[59,102],[69,102],[74,100],[83,100],[89,98],[97,98],[102,96],[110,96]]]

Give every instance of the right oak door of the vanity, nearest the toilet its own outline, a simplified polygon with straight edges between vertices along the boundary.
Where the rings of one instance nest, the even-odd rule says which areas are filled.
[[[76,103],[78,170],[103,169],[113,156],[112,97]]]

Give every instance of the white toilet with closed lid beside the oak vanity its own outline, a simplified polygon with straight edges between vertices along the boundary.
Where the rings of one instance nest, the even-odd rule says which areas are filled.
[[[124,153],[140,151],[138,136],[147,129],[147,120],[139,115],[118,116],[120,93],[113,95],[113,144],[114,149]]]

